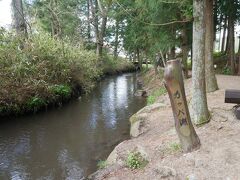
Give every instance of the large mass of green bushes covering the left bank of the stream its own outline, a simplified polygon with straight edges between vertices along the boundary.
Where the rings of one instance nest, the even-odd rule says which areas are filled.
[[[3,29],[0,72],[0,109],[5,112],[36,111],[58,96],[69,98],[76,85],[89,91],[102,74],[95,53],[81,45],[44,33],[34,34],[23,43]]]

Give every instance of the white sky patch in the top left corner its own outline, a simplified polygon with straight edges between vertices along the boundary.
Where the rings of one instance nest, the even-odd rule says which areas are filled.
[[[6,27],[11,22],[11,0],[0,0],[0,26]]]

